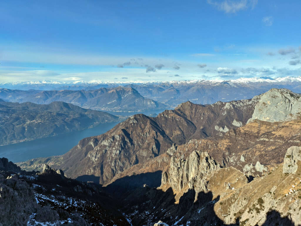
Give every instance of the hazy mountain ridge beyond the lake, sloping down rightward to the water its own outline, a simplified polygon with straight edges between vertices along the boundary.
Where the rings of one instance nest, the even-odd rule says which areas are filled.
[[[93,110],[109,111],[143,111],[163,109],[167,105],[144,98],[131,87],[99,88],[96,90],[11,90],[0,89],[0,97],[5,101],[32,102],[50,104],[53,101],[63,101]]]

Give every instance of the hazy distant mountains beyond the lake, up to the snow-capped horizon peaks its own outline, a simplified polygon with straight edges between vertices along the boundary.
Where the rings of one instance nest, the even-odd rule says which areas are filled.
[[[117,87],[122,85],[123,87]],[[64,101],[94,110],[143,111],[173,108],[191,101],[195,104],[213,104],[216,101],[249,99],[271,88],[301,91],[301,77],[240,78],[228,81],[188,80],[148,83],[52,83],[23,82],[0,84],[0,98],[5,101],[48,104]],[[7,89],[7,88],[14,88]],[[39,90],[15,90],[35,88]],[[41,91],[45,88],[52,91]],[[60,91],[58,91],[58,90]]]

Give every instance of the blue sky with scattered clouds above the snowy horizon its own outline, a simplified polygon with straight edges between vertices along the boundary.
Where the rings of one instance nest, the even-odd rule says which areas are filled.
[[[301,75],[301,1],[0,1],[0,82]]]

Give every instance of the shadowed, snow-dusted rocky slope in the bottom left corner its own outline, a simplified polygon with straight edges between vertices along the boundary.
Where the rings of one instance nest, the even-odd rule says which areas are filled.
[[[117,201],[96,184],[48,165],[43,172],[14,172],[16,165],[0,160],[0,225],[129,225]]]

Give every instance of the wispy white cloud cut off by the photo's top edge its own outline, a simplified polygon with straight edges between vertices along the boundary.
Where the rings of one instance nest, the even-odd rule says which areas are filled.
[[[212,0],[207,0],[210,5],[216,6],[220,11],[225,13],[236,13],[247,8],[253,9],[257,5],[257,0],[240,0],[231,1],[225,0],[223,2],[215,2]]]

